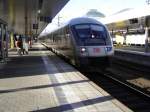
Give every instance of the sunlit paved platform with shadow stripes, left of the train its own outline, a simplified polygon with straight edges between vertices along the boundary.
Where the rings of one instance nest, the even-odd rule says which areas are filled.
[[[0,112],[131,112],[42,45],[0,64]]]

